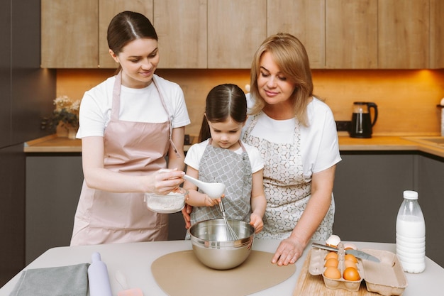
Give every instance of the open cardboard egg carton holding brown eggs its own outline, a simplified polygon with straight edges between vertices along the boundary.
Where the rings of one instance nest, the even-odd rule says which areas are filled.
[[[381,262],[376,263],[368,260],[360,260],[357,258],[357,271],[361,280],[350,281],[340,278],[332,280],[323,276],[324,283],[329,289],[345,289],[350,292],[356,292],[360,289],[362,280],[365,280],[367,291],[375,292],[383,296],[402,295],[407,287],[407,279],[402,270],[396,254],[389,251],[374,250],[363,248],[361,251],[369,253]],[[318,248],[311,249],[311,260],[309,265],[309,273],[311,275],[321,275],[325,268],[324,258],[328,251]],[[341,267],[339,267],[341,268]],[[340,270],[341,274],[343,270]]]

